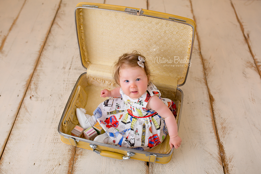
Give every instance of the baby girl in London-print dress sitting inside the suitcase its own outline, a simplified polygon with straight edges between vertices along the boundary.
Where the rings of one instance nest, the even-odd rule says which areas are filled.
[[[102,102],[94,116],[106,133],[94,141],[148,150],[160,144],[169,134],[169,145],[180,147],[176,105],[150,81],[151,71],[145,57],[137,51],[125,53],[115,63],[114,80],[119,87],[104,89]]]

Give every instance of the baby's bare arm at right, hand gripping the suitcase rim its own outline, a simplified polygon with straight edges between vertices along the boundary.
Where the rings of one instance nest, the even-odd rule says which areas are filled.
[[[170,147],[172,148],[172,146],[174,146],[176,149],[180,147],[182,140],[178,135],[177,122],[171,110],[156,95],[151,97],[147,104],[147,108],[155,110],[161,117],[165,119],[165,123],[168,128],[168,135],[170,137]]]

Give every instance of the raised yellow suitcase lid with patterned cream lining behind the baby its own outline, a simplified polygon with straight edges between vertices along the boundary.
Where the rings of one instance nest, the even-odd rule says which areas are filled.
[[[146,57],[155,85],[176,89],[185,83],[195,36],[193,20],[145,9],[79,3],[75,24],[88,75],[113,79],[118,57],[137,50]]]

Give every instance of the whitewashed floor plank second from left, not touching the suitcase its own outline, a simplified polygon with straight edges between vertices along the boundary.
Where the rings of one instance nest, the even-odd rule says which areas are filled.
[[[14,124],[60,0],[28,0],[0,52],[0,154]],[[12,10],[11,10],[12,11]]]

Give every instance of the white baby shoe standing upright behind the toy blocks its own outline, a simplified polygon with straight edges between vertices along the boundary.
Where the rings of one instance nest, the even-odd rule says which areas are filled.
[[[76,109],[76,116],[79,124],[84,129],[88,129],[89,127],[95,125],[95,123],[97,122],[94,115],[90,116],[86,114],[86,110],[83,108]]]

